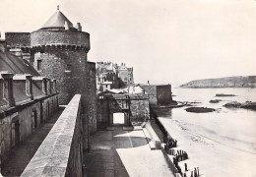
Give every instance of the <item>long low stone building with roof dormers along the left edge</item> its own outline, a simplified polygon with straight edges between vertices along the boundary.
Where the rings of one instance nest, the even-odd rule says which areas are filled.
[[[0,42],[0,166],[13,148],[58,109],[56,81],[40,77],[28,61]]]

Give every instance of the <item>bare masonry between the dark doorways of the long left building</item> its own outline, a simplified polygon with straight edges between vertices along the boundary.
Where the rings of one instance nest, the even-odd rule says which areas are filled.
[[[51,114],[57,110],[57,95],[53,95],[41,101],[34,101],[30,106],[21,110],[15,111],[16,107],[14,107],[12,108],[14,113],[0,118],[0,161],[4,161],[13,148],[12,142],[14,142],[14,140],[12,139],[14,137],[14,127],[12,127],[12,123],[19,121],[19,140],[20,142],[25,141],[36,128],[34,126],[39,126],[45,119],[49,118],[48,116],[51,115],[47,113],[47,104],[45,102],[49,102],[49,112]],[[43,106],[42,108],[40,107],[41,105]],[[41,112],[41,110],[43,111]],[[34,122],[33,111],[36,111],[36,123]],[[43,120],[41,120],[41,117]]]

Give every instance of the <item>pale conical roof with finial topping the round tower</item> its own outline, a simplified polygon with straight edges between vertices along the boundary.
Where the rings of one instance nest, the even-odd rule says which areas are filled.
[[[66,18],[66,16],[59,11],[57,11],[49,18],[49,20],[41,27],[41,29],[59,29],[64,28],[65,22],[68,24],[69,28],[74,28],[73,24]]]

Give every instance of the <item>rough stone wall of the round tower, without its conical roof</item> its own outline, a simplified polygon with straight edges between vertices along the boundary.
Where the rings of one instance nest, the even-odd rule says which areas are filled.
[[[42,76],[57,80],[59,103],[67,104],[71,98],[82,95],[81,117],[84,127],[84,150],[89,148],[89,119],[87,115],[87,52],[90,50],[90,34],[72,30],[36,30],[31,34],[32,46],[36,45],[83,45],[87,51],[78,51],[76,47],[65,50],[46,48],[41,55],[35,53],[34,67]],[[43,47],[42,47],[43,48]],[[37,67],[41,61],[41,67]],[[40,65],[39,65],[40,66]]]

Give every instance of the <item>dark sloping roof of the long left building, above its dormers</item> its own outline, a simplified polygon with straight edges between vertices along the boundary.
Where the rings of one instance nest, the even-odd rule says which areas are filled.
[[[10,53],[0,52],[0,70],[8,71],[13,74],[30,74],[39,76],[36,70],[27,60],[19,59],[17,56]]]

